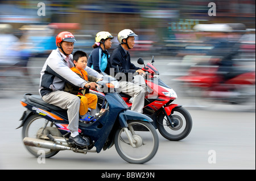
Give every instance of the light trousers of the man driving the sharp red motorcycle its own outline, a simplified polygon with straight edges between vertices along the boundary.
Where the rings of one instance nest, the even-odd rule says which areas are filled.
[[[144,95],[145,91],[141,86],[135,85],[131,82],[121,81],[119,82],[118,92],[123,92],[133,97],[133,104],[131,106],[132,111],[143,113],[144,107]]]

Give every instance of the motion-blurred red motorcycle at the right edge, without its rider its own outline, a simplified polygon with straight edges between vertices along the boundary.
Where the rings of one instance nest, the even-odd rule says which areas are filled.
[[[195,65],[188,75],[178,77],[183,90],[189,96],[203,98],[210,102],[229,104],[254,104],[255,110],[255,70],[242,70],[236,66],[231,71],[220,71],[216,65]]]

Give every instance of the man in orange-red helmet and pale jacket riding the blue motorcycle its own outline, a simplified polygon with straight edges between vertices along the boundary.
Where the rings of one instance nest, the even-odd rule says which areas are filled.
[[[67,128],[71,131],[69,142],[78,146],[88,146],[89,140],[79,135],[80,98],[63,91],[65,82],[81,88],[90,86],[90,89],[95,89],[96,86],[94,82],[88,83],[81,79],[70,69],[74,66],[72,52],[75,42],[76,39],[71,32],[60,32],[56,36],[57,49],[52,50],[40,73],[39,93],[44,102],[67,110]]]

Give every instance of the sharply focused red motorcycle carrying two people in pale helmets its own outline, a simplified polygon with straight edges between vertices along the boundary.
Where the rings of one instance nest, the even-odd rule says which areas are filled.
[[[183,140],[192,129],[192,118],[189,112],[179,104],[172,104],[177,98],[176,92],[166,83],[158,78],[159,71],[153,66],[154,57],[151,64],[144,65],[142,58],[138,59],[138,64],[144,65],[146,72],[145,82],[148,94],[145,96],[143,114],[150,117],[155,129],[167,140]],[[93,91],[98,95],[98,108],[100,108],[104,95]],[[129,95],[119,92],[123,100],[131,108],[132,100]]]

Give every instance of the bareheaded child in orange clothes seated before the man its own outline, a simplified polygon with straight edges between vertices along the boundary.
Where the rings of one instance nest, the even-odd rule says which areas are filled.
[[[84,70],[87,66],[87,54],[83,51],[76,51],[73,54],[73,63],[74,67],[71,68],[80,78],[85,81],[89,81],[92,86],[97,87],[95,82],[100,81],[101,79],[97,79],[96,77],[88,75],[88,73]],[[93,117],[90,115],[90,111],[95,110],[97,107],[97,95],[89,93],[90,85],[89,83],[85,85],[86,89],[82,89],[80,87],[72,86],[70,83],[66,83],[64,91],[70,92],[71,94],[75,94],[79,96],[81,99],[80,103],[80,120],[82,121],[90,121],[93,120]]]

